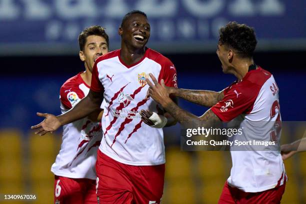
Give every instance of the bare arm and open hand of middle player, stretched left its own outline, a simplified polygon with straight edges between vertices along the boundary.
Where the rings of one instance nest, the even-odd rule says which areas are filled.
[[[48,113],[37,113],[38,116],[45,117],[45,119],[39,124],[31,126],[31,129],[35,129],[35,134],[39,135],[43,135],[47,132],[53,132],[61,125],[73,122],[88,116],[92,112],[98,111],[102,100],[102,92],[89,90],[86,97],[82,98],[73,108],[64,114],[55,116]]]

